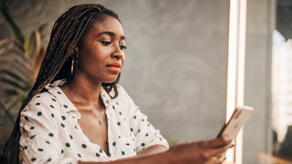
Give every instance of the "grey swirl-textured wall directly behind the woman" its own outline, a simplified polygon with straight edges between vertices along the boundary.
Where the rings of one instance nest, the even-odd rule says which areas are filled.
[[[5,1],[26,35],[77,0]],[[127,37],[120,84],[165,137],[201,140],[225,124],[229,0],[96,0]],[[12,37],[0,17],[0,38]],[[1,128],[1,125],[0,125]]]

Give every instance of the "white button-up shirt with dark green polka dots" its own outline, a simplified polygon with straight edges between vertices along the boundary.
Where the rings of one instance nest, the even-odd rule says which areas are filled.
[[[118,84],[118,97],[111,99],[101,87],[108,123],[109,156],[98,144],[89,141],[78,121],[80,113],[58,87],[66,79],[46,85],[47,92],[35,95],[21,112],[21,163],[110,162],[133,157],[147,147],[168,142],[147,121],[139,106]],[[97,120],[96,123],[99,123]]]

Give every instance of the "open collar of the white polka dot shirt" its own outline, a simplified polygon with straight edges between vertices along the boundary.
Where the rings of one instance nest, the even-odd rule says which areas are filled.
[[[52,95],[54,95],[60,102],[62,108],[66,111],[69,112],[71,110],[76,110],[75,106],[71,103],[71,101],[66,97],[66,95],[64,94],[64,92],[62,91],[61,88],[56,87],[56,86],[62,86],[66,83],[67,79],[61,79],[61,80],[56,80],[53,82],[53,84],[47,84],[46,85],[46,90],[51,93]],[[65,97],[64,97],[65,96]],[[106,90],[101,86],[100,87],[100,97],[103,101],[103,103],[108,106],[110,105],[110,96],[109,94],[106,92]],[[64,103],[64,104],[62,104]]]

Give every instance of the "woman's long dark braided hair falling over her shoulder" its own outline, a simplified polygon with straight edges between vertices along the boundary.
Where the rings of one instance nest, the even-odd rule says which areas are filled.
[[[19,139],[21,133],[19,122],[21,111],[33,96],[46,91],[44,87],[52,81],[65,78],[74,80],[74,78],[71,78],[71,63],[73,59],[69,58],[70,52],[75,46],[82,46],[86,33],[107,16],[114,17],[121,22],[117,13],[99,4],[73,6],[56,20],[37,78],[18,112],[11,136],[5,144],[3,150],[4,163],[20,163]],[[76,73],[76,69],[74,71]],[[107,93],[114,89],[114,97],[110,96],[112,99],[118,96],[117,84],[119,77],[120,74],[113,83],[102,83],[102,87]]]

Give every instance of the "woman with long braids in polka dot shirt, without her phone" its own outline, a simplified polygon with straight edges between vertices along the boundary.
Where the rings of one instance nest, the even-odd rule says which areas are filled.
[[[5,162],[221,163],[231,139],[169,149],[118,84],[125,42],[118,15],[101,5],[61,15],[4,148]]]

